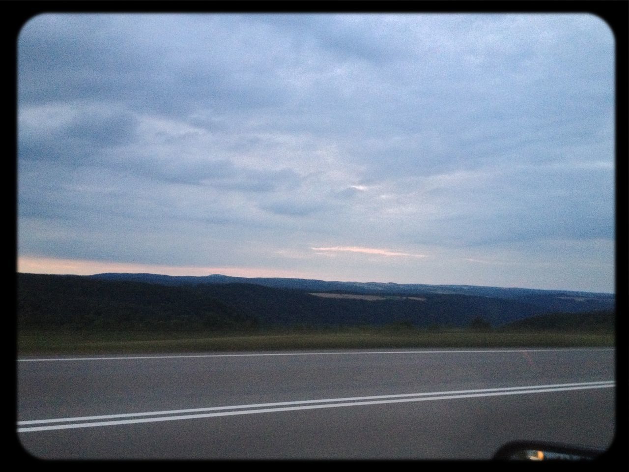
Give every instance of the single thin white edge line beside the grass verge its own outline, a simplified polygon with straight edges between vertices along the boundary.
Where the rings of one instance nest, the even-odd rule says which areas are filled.
[[[614,351],[613,347],[565,347],[560,349],[469,349],[464,351],[339,351],[339,352],[264,352],[256,354],[177,354],[169,356],[115,356],[115,357],[49,357],[18,359],[18,362],[52,361],[123,361],[131,359],[186,359],[191,357],[266,357],[266,356],[340,356],[363,354],[470,354],[487,352],[564,352],[564,351]]]

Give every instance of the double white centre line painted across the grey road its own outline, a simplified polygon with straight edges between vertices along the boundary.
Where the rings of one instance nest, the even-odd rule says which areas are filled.
[[[167,410],[162,412],[122,413],[118,415],[26,420],[18,421],[18,432],[152,423],[158,421],[189,420],[194,418],[211,418],[219,416],[252,415],[253,413],[315,410],[317,408],[381,405],[383,403],[427,402],[430,400],[452,400],[454,398],[474,398],[479,396],[524,395],[527,393],[588,390],[592,388],[613,388],[615,385],[614,381],[561,383],[555,385],[404,393],[400,395],[351,396],[347,398],[326,398],[325,400],[301,400],[298,402],[253,403],[251,405],[233,405],[231,407],[189,408],[187,410]]]

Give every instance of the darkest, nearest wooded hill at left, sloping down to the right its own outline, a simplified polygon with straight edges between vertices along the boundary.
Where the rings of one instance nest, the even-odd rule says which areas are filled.
[[[194,286],[18,274],[17,287],[19,329],[257,328],[255,318]]]

